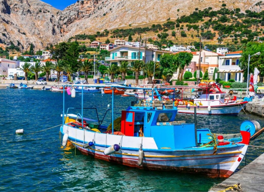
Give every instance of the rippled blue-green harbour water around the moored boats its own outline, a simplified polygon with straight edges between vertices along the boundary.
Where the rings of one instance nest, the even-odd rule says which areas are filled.
[[[65,97],[67,107],[81,107],[80,94]],[[115,96],[115,112],[134,100]],[[26,135],[62,123],[62,93],[1,88],[0,103],[0,191],[208,191],[214,183],[223,181],[197,174],[139,170],[97,160],[78,150],[75,155],[73,147],[61,148],[59,127]],[[111,95],[85,94],[84,103],[85,107],[98,107],[102,116],[111,104]],[[84,114],[96,117],[91,111]],[[177,117],[194,122],[191,114]],[[106,119],[110,119],[110,113]],[[198,128],[208,127],[219,133],[239,132],[246,119],[264,126],[261,117],[244,112],[238,116],[197,116]],[[15,135],[19,128],[25,130],[24,135]],[[251,144],[264,146],[263,139],[261,135]],[[247,163],[263,152],[249,147]],[[244,164],[243,160],[239,168]]]

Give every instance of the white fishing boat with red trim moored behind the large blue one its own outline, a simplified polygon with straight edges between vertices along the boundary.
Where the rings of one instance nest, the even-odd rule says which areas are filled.
[[[196,108],[197,114],[237,115],[248,103],[247,98],[227,97],[226,93],[214,83],[200,85],[199,88],[204,90],[199,98],[175,101],[178,113],[194,113],[194,108]]]

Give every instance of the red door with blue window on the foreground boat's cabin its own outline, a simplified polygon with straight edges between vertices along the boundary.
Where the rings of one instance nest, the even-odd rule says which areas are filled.
[[[122,111],[121,132],[126,136],[134,136],[135,112]]]

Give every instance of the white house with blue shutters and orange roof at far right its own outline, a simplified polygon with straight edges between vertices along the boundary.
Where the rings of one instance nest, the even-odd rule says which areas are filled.
[[[225,56],[219,57],[219,68],[215,78],[228,81],[234,79],[237,82],[243,82],[243,72],[239,67],[239,59],[242,51],[229,52]]]

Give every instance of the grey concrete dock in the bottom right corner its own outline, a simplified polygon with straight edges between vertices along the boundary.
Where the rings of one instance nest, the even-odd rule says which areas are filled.
[[[240,183],[242,191],[264,191],[263,182],[264,153],[254,161],[234,173],[221,184],[234,185]],[[221,191],[220,188],[211,188],[210,192]],[[235,191],[235,190],[234,190]]]

